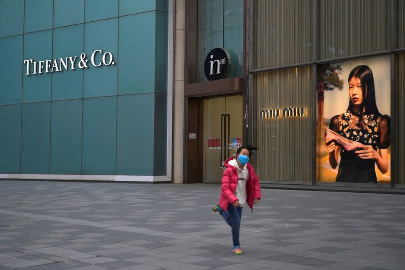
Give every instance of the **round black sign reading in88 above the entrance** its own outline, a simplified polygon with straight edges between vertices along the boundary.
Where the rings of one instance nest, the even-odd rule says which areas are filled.
[[[204,62],[204,72],[208,81],[225,79],[231,69],[231,57],[222,48],[212,49]]]

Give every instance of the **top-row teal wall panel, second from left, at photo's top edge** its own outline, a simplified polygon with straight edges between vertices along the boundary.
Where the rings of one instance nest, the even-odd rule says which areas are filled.
[[[51,29],[53,9],[53,0],[25,0],[24,32]]]

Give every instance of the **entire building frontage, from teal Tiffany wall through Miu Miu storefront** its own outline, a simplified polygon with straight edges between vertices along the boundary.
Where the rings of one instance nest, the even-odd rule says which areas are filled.
[[[0,49],[0,178],[216,183],[249,144],[263,186],[404,187],[401,0],[0,0]]]

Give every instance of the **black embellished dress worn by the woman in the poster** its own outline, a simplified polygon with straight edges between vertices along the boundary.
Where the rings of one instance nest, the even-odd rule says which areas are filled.
[[[359,123],[359,115],[347,110],[335,115],[329,128],[339,135],[365,145],[372,145],[375,150],[387,149],[390,145],[390,117],[388,115],[363,114]],[[360,159],[355,151],[340,149],[339,171],[336,182],[377,183],[374,160]]]

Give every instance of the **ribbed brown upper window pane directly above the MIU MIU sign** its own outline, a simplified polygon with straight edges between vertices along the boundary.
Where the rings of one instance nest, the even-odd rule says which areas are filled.
[[[310,0],[258,0],[255,69],[311,61]]]

